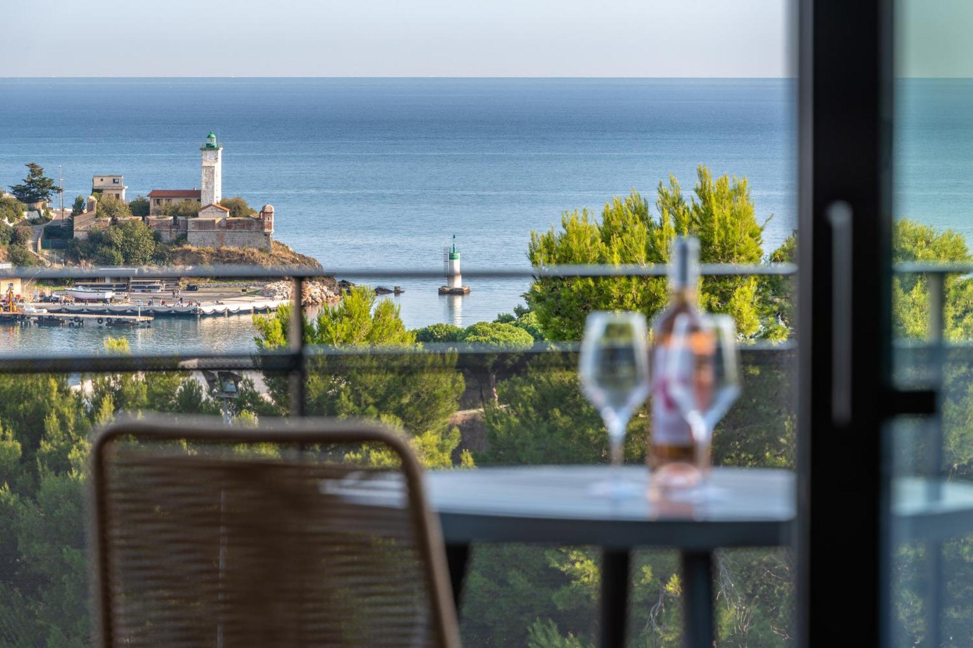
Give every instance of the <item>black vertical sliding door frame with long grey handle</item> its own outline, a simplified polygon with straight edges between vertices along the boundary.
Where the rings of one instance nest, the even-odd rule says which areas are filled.
[[[798,0],[801,646],[887,646],[891,0]]]

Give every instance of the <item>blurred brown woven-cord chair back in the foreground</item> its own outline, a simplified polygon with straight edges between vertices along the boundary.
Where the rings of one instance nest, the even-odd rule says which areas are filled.
[[[438,520],[393,432],[119,422],[92,484],[100,645],[458,646]]]

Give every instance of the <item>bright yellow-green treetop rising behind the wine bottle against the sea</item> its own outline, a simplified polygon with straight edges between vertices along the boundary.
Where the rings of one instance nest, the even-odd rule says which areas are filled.
[[[565,212],[559,230],[530,234],[530,263],[662,264],[678,234],[700,238],[703,263],[760,263],[764,226],[757,223],[746,179],[714,179],[705,166],[697,176],[696,196],[689,201],[675,177],[669,176],[667,186],[660,182],[655,214],[635,191],[605,204],[600,222],[587,210]],[[700,303],[732,314],[743,338],[781,339],[787,330],[768,293],[771,285],[753,276],[706,277]],[[524,297],[546,338],[579,340],[592,310],[639,310],[651,317],[667,304],[667,288],[662,277],[541,278]]]

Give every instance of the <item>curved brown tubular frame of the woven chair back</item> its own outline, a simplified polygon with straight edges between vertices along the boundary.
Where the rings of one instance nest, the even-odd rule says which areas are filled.
[[[121,437],[145,441],[198,440],[204,442],[228,442],[240,444],[291,443],[312,445],[320,443],[381,443],[394,450],[402,461],[402,474],[409,491],[409,508],[413,519],[416,550],[422,558],[426,582],[429,588],[430,608],[434,624],[443,640],[443,648],[455,648],[459,643],[459,626],[453,605],[446,548],[438,516],[428,506],[423,485],[423,469],[413,450],[402,436],[374,421],[362,419],[280,418],[263,419],[256,428],[227,425],[217,416],[180,416],[180,425],[174,427],[172,419],[161,415],[141,418],[123,418],[102,428],[95,438],[91,451],[91,545],[92,587],[96,602],[97,623],[95,644],[113,646],[114,627],[110,583],[111,565],[108,559],[107,529],[109,526],[106,505],[104,451]]]

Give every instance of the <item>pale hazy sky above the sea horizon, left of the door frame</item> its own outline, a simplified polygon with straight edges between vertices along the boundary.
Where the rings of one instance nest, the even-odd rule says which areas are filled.
[[[0,76],[792,76],[790,0],[4,2]]]

